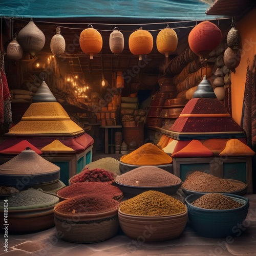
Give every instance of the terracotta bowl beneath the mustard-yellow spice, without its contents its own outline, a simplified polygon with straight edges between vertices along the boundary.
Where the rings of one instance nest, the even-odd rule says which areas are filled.
[[[121,204],[120,204],[121,205]],[[184,231],[188,213],[187,208],[182,214],[165,216],[127,215],[118,207],[120,227],[126,236],[144,241],[166,241],[177,238]]]

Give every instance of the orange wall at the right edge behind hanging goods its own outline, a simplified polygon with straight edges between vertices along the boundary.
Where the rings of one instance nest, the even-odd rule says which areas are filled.
[[[232,117],[238,124],[241,124],[246,69],[248,62],[253,64],[254,54],[256,54],[256,8],[239,20],[236,28],[241,34],[242,50],[236,73],[231,74]]]

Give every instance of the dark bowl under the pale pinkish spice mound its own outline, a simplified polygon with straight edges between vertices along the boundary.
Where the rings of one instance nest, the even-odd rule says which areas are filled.
[[[120,190],[122,191],[123,196],[125,198],[135,197],[135,196],[137,196],[145,191],[148,191],[148,190],[155,190],[155,191],[162,192],[166,195],[173,195],[180,188],[181,184],[182,184],[182,182],[180,182],[179,184],[172,185],[172,186],[139,187],[139,186],[124,185],[124,184],[118,183],[116,181],[113,183],[113,185],[120,188]]]

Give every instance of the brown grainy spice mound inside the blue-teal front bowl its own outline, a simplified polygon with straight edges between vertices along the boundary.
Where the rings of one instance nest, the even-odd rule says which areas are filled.
[[[193,205],[212,210],[228,210],[243,206],[243,204],[233,200],[231,197],[224,196],[220,193],[205,194],[194,201]]]

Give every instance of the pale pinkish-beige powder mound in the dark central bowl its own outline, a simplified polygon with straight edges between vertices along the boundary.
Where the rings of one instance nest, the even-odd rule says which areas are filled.
[[[141,166],[115,178],[115,182],[136,187],[162,187],[181,183],[181,179],[156,166]]]

